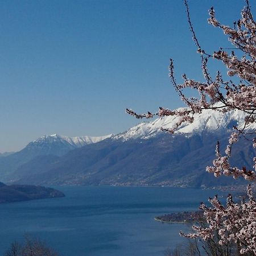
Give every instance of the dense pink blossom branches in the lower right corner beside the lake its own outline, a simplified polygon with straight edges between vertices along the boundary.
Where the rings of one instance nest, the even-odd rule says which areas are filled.
[[[216,232],[220,236],[219,245],[227,245],[234,242],[240,248],[240,253],[254,253],[256,255],[256,201],[251,192],[251,186],[247,186],[247,201],[234,203],[232,195],[226,200],[224,207],[218,197],[209,198],[212,207],[201,203],[199,209],[204,210],[204,217],[208,223],[204,226],[193,225],[195,233],[180,235],[187,238],[201,237],[208,241],[213,239]],[[248,232],[250,230],[250,232]]]

